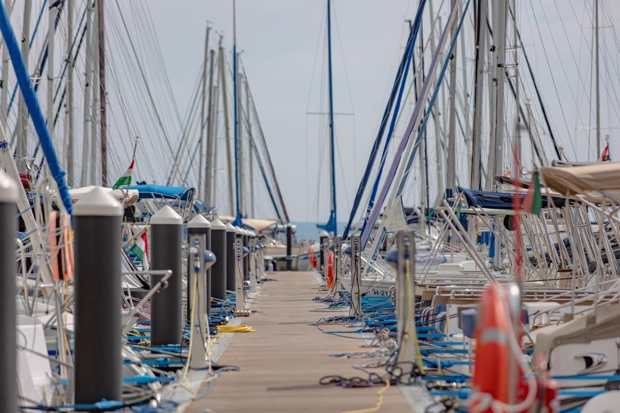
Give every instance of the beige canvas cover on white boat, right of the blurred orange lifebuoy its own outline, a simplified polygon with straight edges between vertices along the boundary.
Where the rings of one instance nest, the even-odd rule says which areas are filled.
[[[557,326],[543,327],[536,335],[532,360],[549,360],[551,351],[562,344],[588,343],[620,337],[620,304],[599,306],[583,316]],[[532,365],[538,365],[538,362]]]

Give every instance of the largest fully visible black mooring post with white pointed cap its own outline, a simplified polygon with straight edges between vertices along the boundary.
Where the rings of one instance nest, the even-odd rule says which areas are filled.
[[[123,396],[118,290],[122,215],[123,207],[102,187],[73,207],[76,404],[120,401]]]

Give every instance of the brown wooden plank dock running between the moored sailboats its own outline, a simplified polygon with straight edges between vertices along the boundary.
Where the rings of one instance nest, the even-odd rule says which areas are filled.
[[[222,373],[210,393],[185,411],[302,413],[374,407],[380,387],[340,388],[319,384],[319,379],[327,375],[366,378],[362,371],[352,368],[359,358],[328,356],[328,353],[365,349],[360,348],[363,340],[323,334],[316,326],[308,326],[321,317],[337,314],[310,311],[325,307],[312,301],[319,295],[312,273],[276,272],[268,277],[275,281],[263,283],[260,295],[252,304],[256,313],[243,321],[256,331],[236,333],[218,359],[219,365],[239,366],[241,370]],[[392,387],[386,391],[381,411],[411,410],[399,389]]]

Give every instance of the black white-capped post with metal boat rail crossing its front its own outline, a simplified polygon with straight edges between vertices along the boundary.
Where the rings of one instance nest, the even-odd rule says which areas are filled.
[[[168,205],[151,216],[151,267],[172,270],[166,288],[151,298],[151,345],[182,343],[182,223],[183,218]],[[151,275],[151,287],[162,277]]]

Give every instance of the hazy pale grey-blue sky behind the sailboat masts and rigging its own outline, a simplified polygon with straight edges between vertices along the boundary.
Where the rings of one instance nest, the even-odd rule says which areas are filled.
[[[217,48],[218,37],[223,35],[228,65],[231,61],[232,0],[106,0],[104,3],[107,16],[107,92],[110,123],[108,179],[115,180],[125,171],[130,162],[134,136],[140,135],[135,179],[149,182],[156,180],[157,183],[166,184],[167,172],[174,164],[171,154],[177,148],[182,135],[182,125],[185,123],[188,106],[193,100],[201,71],[207,22],[213,27],[210,48]],[[462,3],[464,4],[464,1]],[[405,19],[414,18],[417,4],[417,0],[332,1],[334,109],[339,113],[335,116],[335,172],[339,221],[348,218],[350,205],[366,166],[409,31]],[[554,158],[547,125],[542,118],[541,106],[525,64],[524,50],[536,77],[552,131],[556,140],[564,145],[565,156],[578,161],[598,158],[600,153],[596,153],[593,129],[593,0],[534,0],[517,1],[517,4],[517,27],[520,29],[524,47],[518,53],[520,101],[524,105],[526,99],[533,100],[533,117],[530,121],[535,126],[536,134],[540,135],[539,146],[544,150],[547,161]],[[84,13],[86,1],[76,1],[75,5],[74,19],[77,22]],[[327,111],[325,6],[324,0],[237,0],[237,50],[242,53],[241,60],[252,87],[262,130],[292,220],[326,221],[329,216],[327,118],[325,115],[307,113]],[[434,30],[438,38],[438,33],[448,17],[448,6],[448,0],[427,1],[423,20],[427,69],[432,51],[432,45],[428,42],[429,33]],[[431,7],[436,20],[430,19]],[[122,10],[124,21],[120,18],[118,9]],[[619,2],[600,0],[601,134],[611,135],[612,159],[616,159],[615,154],[620,153],[620,144],[617,144],[614,138],[615,131],[620,127],[620,39],[616,33],[619,9]],[[35,73],[37,58],[45,47],[45,33],[49,21],[47,17],[50,12],[43,0],[33,1],[33,24],[39,13],[42,13],[43,19],[32,46],[32,73]],[[23,3],[17,1],[12,24],[18,34],[22,30],[22,16]],[[63,19],[66,19],[66,14]],[[464,186],[469,184],[469,157],[465,141],[469,139],[469,136],[466,136],[467,123],[471,127],[474,87],[472,21],[470,9],[461,33],[466,50],[464,60],[462,51],[459,52],[463,44],[460,39],[457,49],[457,116],[459,127],[463,127],[462,131],[457,131],[457,177],[458,184]],[[127,35],[126,30],[130,35]],[[512,39],[513,25],[509,22],[508,48],[514,43]],[[61,79],[66,40],[66,20],[61,20],[53,56],[55,79]],[[141,63],[139,67],[132,48],[135,48]],[[90,55],[82,50],[74,74],[74,91],[78,96],[75,103],[75,112],[78,115],[74,122],[74,134],[77,136],[77,164],[74,175],[81,184],[90,183],[81,182],[79,179],[82,166],[86,166],[90,159],[87,155],[82,157],[82,153],[87,153],[81,150],[83,128],[89,128],[88,123],[83,122],[84,99],[81,95],[86,84],[86,56]],[[417,63],[419,62],[417,56]],[[510,50],[507,56],[508,75],[514,82],[516,78],[513,63],[515,62]],[[144,71],[154,96],[169,144],[162,138],[159,120],[149,102],[140,69]],[[229,66],[226,69],[229,71]],[[490,124],[487,85],[492,81],[489,71],[485,70],[483,81],[482,163],[486,169],[489,164],[486,151],[489,146]],[[230,93],[230,78],[228,82]],[[12,72],[8,74],[7,83],[9,87],[15,84]],[[56,80],[55,87],[64,84],[64,79],[62,82]],[[409,81],[405,92],[409,92],[410,84]],[[430,120],[427,129],[431,200],[441,190],[438,183],[446,163],[445,153],[440,153],[438,157],[435,155],[436,143],[446,140],[447,135],[446,84],[447,82],[443,83],[435,104],[435,117]],[[47,88],[41,87],[38,92],[43,107],[47,97],[46,90]],[[466,109],[462,102],[468,102],[469,118],[465,117]],[[414,104],[412,94],[408,95],[402,105],[394,133],[395,143],[398,143],[404,133]],[[9,115],[9,130],[17,120],[16,106],[14,105]],[[64,110],[58,118],[54,140],[64,164],[68,128],[66,113],[62,112]],[[503,113],[506,119],[507,141],[515,135],[515,113],[515,102],[507,89]],[[221,123],[221,117],[219,119]],[[191,138],[193,143],[190,144],[192,147],[184,149],[181,154],[182,163],[187,163],[187,158],[195,153],[196,123],[190,129],[194,134]],[[221,213],[228,214],[230,208],[223,131],[223,125],[220,124],[216,204]],[[29,143],[31,151],[34,150],[34,143],[34,140]],[[392,144],[389,150],[387,167],[391,163],[394,146],[396,145]],[[529,170],[533,167],[530,148],[528,138],[523,136],[525,167]],[[510,163],[512,157],[509,144],[505,144],[503,154],[505,161]],[[82,159],[86,159],[86,162]],[[196,185],[196,181],[197,177],[190,171],[185,184]],[[404,193],[405,205],[417,205],[420,183],[420,174],[418,169],[415,169]],[[255,215],[273,217],[275,213],[258,168],[255,170],[255,185]]]

